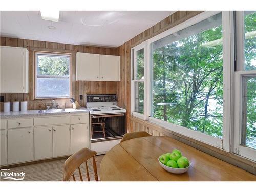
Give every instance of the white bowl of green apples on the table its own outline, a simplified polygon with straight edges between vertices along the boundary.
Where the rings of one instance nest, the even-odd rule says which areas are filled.
[[[158,157],[159,164],[167,172],[174,174],[183,174],[187,172],[190,167],[190,161],[182,156],[181,152],[174,149],[172,153],[166,153]]]

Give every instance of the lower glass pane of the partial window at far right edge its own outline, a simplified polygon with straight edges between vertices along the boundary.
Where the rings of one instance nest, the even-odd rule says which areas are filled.
[[[247,77],[243,81],[243,113],[244,135],[242,143],[256,149],[256,77]]]

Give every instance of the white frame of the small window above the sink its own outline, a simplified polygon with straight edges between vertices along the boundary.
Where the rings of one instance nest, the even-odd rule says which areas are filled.
[[[56,96],[56,97],[38,97],[37,96],[37,78],[39,77],[43,77],[41,75],[38,75],[37,74],[37,56],[38,55],[54,55],[54,56],[65,56],[65,57],[69,57],[69,76],[68,77],[63,77],[63,76],[60,76],[60,77],[57,77],[57,76],[47,76],[45,78],[68,78],[69,79],[69,95],[68,96],[64,96],[64,97],[59,97],[59,96]],[[70,98],[71,97],[71,54],[65,54],[65,53],[49,53],[49,52],[40,52],[40,51],[36,51],[35,52],[35,70],[34,70],[34,73],[35,73],[35,99],[66,99],[66,98]]]

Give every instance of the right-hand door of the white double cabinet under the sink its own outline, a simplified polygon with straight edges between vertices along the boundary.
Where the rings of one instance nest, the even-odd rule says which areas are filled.
[[[70,125],[53,126],[53,157],[70,155]]]

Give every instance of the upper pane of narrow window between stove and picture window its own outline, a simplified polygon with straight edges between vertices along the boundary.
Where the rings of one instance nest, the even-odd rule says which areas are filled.
[[[134,79],[144,79],[144,49],[137,51],[136,55]]]

